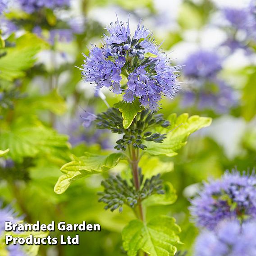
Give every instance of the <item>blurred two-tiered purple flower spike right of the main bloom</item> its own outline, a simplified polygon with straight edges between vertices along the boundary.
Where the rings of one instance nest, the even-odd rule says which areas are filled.
[[[215,109],[218,113],[226,112],[236,105],[237,96],[233,89],[218,78],[222,59],[215,51],[198,50],[188,55],[183,63],[183,73],[189,79],[184,90],[183,105],[195,103],[199,109]]]

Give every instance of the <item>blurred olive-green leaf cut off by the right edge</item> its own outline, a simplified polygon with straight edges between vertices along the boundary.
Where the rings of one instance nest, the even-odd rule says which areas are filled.
[[[242,115],[250,121],[256,115],[256,69],[252,70],[242,94]]]

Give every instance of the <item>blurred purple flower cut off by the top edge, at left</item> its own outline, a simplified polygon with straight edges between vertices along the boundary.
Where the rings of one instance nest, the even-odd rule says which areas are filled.
[[[69,6],[70,0],[18,0],[21,8],[32,14],[42,8],[55,9],[58,7]]]

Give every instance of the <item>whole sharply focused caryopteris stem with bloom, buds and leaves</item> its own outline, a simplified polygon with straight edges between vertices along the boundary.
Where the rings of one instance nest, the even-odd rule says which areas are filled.
[[[85,56],[82,77],[96,84],[96,90],[107,87],[121,94],[123,100],[104,113],[88,115],[84,124],[95,122],[96,128],[109,129],[119,134],[119,139],[113,152],[85,152],[80,157],[73,156],[71,162],[62,166],[63,175],[55,185],[55,192],[63,193],[79,178],[108,171],[120,160],[126,162],[125,175],[110,174],[102,181],[104,190],[99,192],[99,201],[105,204],[106,210],[119,209],[121,213],[126,205],[135,213],[137,219],[128,223],[122,233],[123,249],[129,256],[141,253],[171,256],[180,242],[179,226],[167,215],[148,219],[146,210],[152,205],[174,203],[176,196],[172,185],[160,176],[171,170],[167,168],[169,157],[177,155],[187,137],[210,125],[211,120],[199,116],[188,118],[187,114],[178,117],[170,114],[167,118],[155,114],[161,98],[172,98],[178,91],[179,67],[170,64],[151,31],[144,26],[139,24],[132,36],[129,22],[117,20],[107,31],[104,45],[92,46]]]

